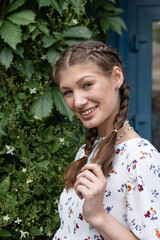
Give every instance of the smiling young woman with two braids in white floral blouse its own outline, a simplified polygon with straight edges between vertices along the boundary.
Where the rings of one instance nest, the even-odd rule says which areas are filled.
[[[160,154],[126,120],[129,87],[119,55],[97,41],[73,45],[54,77],[88,135],[65,171],[53,239],[160,238]]]

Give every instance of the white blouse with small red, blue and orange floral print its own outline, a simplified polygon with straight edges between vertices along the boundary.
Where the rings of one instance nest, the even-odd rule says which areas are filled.
[[[88,162],[98,142],[95,142]],[[76,159],[83,155],[84,146]],[[83,202],[74,188],[68,192],[63,190],[59,202],[61,225],[53,240],[103,240],[103,236],[84,219]],[[115,147],[103,205],[137,238],[160,239],[160,153],[150,142],[135,138]]]

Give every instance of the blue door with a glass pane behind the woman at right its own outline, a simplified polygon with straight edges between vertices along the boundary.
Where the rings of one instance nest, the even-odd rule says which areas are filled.
[[[130,116],[138,133],[160,150],[160,1],[128,4]]]

